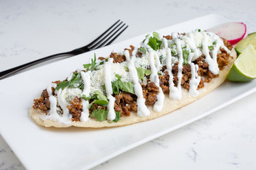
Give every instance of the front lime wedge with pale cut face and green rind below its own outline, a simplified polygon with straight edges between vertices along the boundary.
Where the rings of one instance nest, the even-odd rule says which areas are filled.
[[[250,81],[256,78],[256,50],[248,45],[233,63],[227,79],[230,81]]]

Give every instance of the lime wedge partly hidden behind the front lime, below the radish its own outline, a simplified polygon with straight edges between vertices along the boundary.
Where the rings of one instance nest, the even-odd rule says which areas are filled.
[[[242,51],[245,50],[245,48],[250,44],[256,48],[256,33],[250,33],[245,39],[240,40],[240,42],[238,42],[238,44],[235,46],[235,51],[238,52],[238,55],[240,55]]]

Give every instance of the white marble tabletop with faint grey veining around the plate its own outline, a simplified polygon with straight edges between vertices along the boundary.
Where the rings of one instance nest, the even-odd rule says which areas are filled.
[[[129,28],[115,42],[208,13],[246,23],[252,33],[255,6],[254,0],[0,0],[0,71],[83,46],[119,18]],[[255,103],[256,94],[247,96],[94,169],[256,169]],[[3,169],[24,167],[0,137]]]

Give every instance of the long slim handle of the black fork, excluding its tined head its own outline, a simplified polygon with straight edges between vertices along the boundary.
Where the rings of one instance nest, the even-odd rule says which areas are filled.
[[[18,71],[21,71],[22,69],[26,69],[28,67],[31,67],[31,66],[36,65],[36,64],[40,64],[42,62],[46,62],[48,60],[52,60],[52,59],[55,59],[55,58],[58,58],[58,57],[65,57],[65,56],[66,57],[71,57],[71,56],[74,56],[74,55],[75,54],[70,54],[68,52],[63,52],[63,53],[59,53],[59,54],[56,54],[56,55],[50,55],[48,57],[41,58],[41,59],[35,60],[33,62],[28,62],[26,64],[22,64],[20,66],[17,66],[17,67],[11,68],[11,69],[6,69],[3,72],[0,72],[0,79],[4,79],[6,77],[11,76],[12,74],[15,74]]]

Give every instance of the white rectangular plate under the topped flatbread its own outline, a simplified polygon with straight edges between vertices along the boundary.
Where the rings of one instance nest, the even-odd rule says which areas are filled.
[[[225,23],[222,16],[209,15],[179,23],[157,32],[202,30]],[[0,132],[26,169],[89,169],[122,152],[142,145],[172,130],[227,106],[256,90],[256,81],[225,82],[200,100],[155,120],[119,128],[43,128],[31,120],[28,110],[33,98],[51,81],[62,80],[89,62],[89,57],[107,57],[112,50],[139,46],[145,35],[87,52],[67,60],[23,72],[0,81]]]

